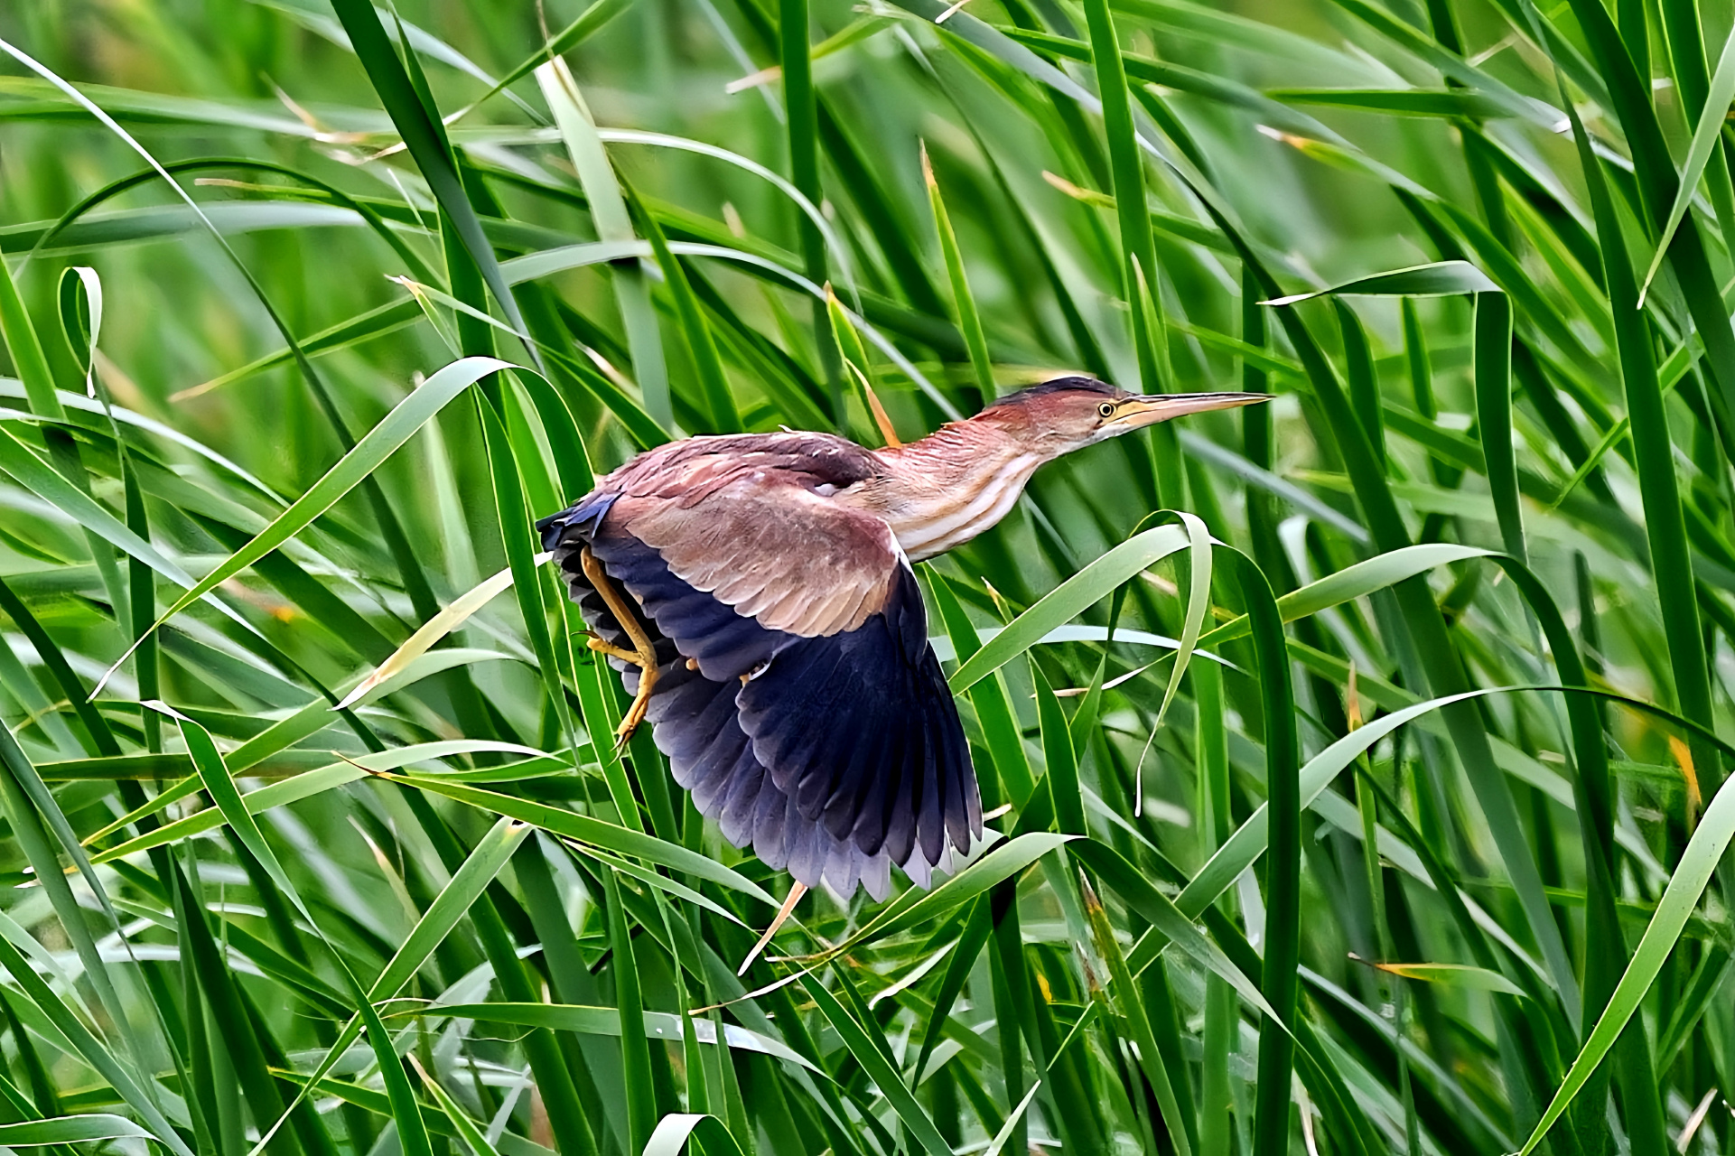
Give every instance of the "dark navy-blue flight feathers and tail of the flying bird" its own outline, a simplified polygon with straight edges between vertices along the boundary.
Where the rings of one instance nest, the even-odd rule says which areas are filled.
[[[696,590],[588,498],[538,524],[585,621],[625,632],[578,564],[588,543],[644,609],[659,672],[649,722],[677,783],[732,844],[803,883],[876,897],[897,863],[928,882],[982,833],[970,748],[907,566],[885,606],[824,637],[769,630]],[[691,668],[696,660],[701,668]],[[623,670],[628,691],[637,670]]]

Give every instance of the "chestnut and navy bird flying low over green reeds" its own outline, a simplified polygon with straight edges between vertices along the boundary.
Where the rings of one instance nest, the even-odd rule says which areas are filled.
[[[881,424],[878,450],[803,430],[687,437],[536,531],[586,646],[633,696],[619,741],[649,722],[723,838],[788,868],[781,922],[822,880],[883,901],[895,864],[928,887],[982,840],[913,564],[999,522],[1046,462],[1258,401],[1062,377],[907,444]]]

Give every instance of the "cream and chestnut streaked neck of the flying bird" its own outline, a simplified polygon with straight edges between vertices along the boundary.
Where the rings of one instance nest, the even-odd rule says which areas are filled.
[[[994,422],[953,422],[921,441],[878,451],[869,495],[904,554],[921,561],[970,542],[1003,519],[1046,455]]]

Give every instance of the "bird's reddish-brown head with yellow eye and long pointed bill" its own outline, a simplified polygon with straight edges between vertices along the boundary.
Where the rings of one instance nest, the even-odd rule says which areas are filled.
[[[1267,394],[1129,394],[1090,377],[1062,377],[1006,394],[972,422],[992,422],[1044,456],[1058,458],[1187,413],[1268,399]]]

